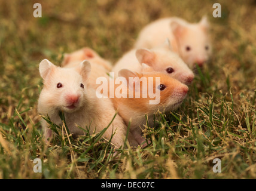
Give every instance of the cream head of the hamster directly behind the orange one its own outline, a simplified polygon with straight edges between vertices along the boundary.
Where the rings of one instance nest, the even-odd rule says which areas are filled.
[[[187,85],[191,84],[194,79],[194,73],[187,64],[184,63],[178,54],[171,51],[169,41],[166,41],[162,46],[151,50],[139,48],[136,51],[136,57],[138,58],[139,63],[144,66],[142,67],[142,72],[144,70],[162,72]],[[150,67],[145,67],[145,64]]]

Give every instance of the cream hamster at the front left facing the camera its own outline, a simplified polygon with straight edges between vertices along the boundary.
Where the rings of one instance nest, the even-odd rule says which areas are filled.
[[[81,128],[90,128],[90,134],[99,133],[108,127],[116,111],[109,98],[97,98],[95,89],[87,86],[90,76],[90,63],[82,61],[72,68],[57,67],[48,60],[42,60],[39,64],[39,73],[44,80],[44,87],[38,100],[38,113],[49,116],[54,124],[62,125],[59,112],[65,115],[69,131],[74,135],[84,135]],[[45,130],[45,138],[52,132],[47,122],[42,119],[42,128]],[[117,146],[123,146],[126,135],[126,125],[119,115],[103,134]]]

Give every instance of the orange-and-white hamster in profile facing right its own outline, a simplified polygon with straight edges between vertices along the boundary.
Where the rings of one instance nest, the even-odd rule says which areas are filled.
[[[117,96],[115,96],[111,99],[114,103],[115,109],[118,110],[119,115],[124,119],[125,124],[129,125],[130,122],[130,132],[128,137],[133,137],[133,140],[129,139],[130,144],[132,144],[132,146],[138,146],[145,141],[145,139],[142,138],[142,129],[145,128],[144,125],[146,124],[145,115],[148,115],[148,126],[152,127],[154,125],[153,115],[158,111],[169,112],[178,108],[182,103],[182,100],[184,100],[187,95],[188,87],[187,85],[182,84],[178,80],[171,78],[170,76],[165,75],[161,72],[153,71],[136,73],[128,69],[122,69],[119,72],[119,76],[126,79],[127,81],[127,84],[120,83],[120,85],[124,87],[124,90],[126,90],[124,91],[124,94],[127,94],[127,98],[118,98]],[[129,97],[129,91],[131,89],[136,89],[136,87],[133,87],[133,85],[130,85],[128,83],[130,77],[133,77],[133,79],[135,79],[135,82],[139,81],[139,79],[145,78],[147,79],[147,85],[149,85],[150,78],[153,78],[154,92],[156,93],[157,91],[159,91],[160,93],[159,104],[149,104],[149,100],[152,100],[149,91],[147,97],[136,98],[134,95],[133,97]],[[160,78],[160,84],[156,83],[156,78]],[[141,91],[141,94],[143,94],[144,91],[142,88],[142,84],[143,82],[140,83],[139,90]],[[115,86],[114,88],[115,91],[117,91],[117,86]],[[134,91],[134,93],[135,92],[136,90]]]

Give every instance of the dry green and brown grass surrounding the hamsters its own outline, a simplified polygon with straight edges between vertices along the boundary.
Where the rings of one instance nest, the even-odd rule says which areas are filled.
[[[42,18],[33,17],[41,2]],[[0,178],[256,178],[256,4],[221,1],[0,1]],[[88,46],[116,61],[145,24],[166,16],[212,25],[214,55],[184,104],[156,120],[145,149],[120,150],[99,135],[42,140],[38,64]],[[42,173],[33,159],[42,159]],[[222,172],[214,173],[214,158]]]

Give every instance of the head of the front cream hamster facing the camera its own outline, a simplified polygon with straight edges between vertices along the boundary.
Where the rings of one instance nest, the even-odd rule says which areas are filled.
[[[39,64],[39,73],[44,80],[40,97],[50,109],[71,113],[85,104],[86,81],[90,75],[90,63],[84,60],[74,68],[61,68],[48,60]]]

